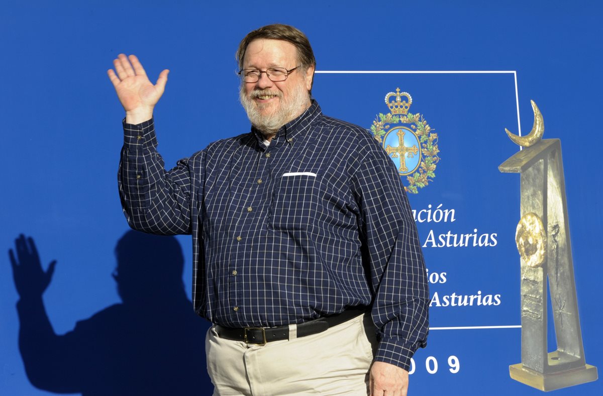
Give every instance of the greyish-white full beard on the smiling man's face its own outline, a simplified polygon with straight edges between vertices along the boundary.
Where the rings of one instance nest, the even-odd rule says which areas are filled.
[[[253,90],[249,95],[246,95],[244,84],[241,84],[239,100],[243,108],[245,108],[245,112],[247,112],[247,118],[249,118],[251,125],[267,137],[274,136],[280,127],[300,115],[309,102],[308,91],[302,84],[294,87],[291,97],[287,101],[283,101],[283,93],[279,90],[274,90],[274,92],[269,89]],[[262,95],[275,95],[279,98],[280,103],[276,112],[271,115],[262,115],[260,113],[260,110],[264,108],[264,104],[258,104],[253,99]],[[271,105],[274,104],[268,104],[268,106]]]

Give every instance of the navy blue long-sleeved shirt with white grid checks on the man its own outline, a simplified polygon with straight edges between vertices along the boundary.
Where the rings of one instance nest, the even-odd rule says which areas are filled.
[[[300,323],[372,306],[375,359],[409,368],[429,293],[404,187],[363,128],[316,101],[269,146],[259,131],[210,143],[166,171],[153,120],[125,124],[128,223],[192,234],[195,311],[228,327]]]

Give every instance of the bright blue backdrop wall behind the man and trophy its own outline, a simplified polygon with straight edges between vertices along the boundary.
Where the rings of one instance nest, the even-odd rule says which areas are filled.
[[[514,242],[520,217],[519,175],[497,170],[518,149],[504,128],[517,132],[519,120],[524,134],[531,128],[529,99],[543,113],[545,139],[561,139],[586,360],[603,369],[598,297],[603,216],[596,203],[603,192],[598,158],[603,137],[597,130],[603,28],[602,7],[593,4],[181,1],[167,5],[106,0],[4,5],[0,161],[6,183],[0,240],[7,251],[18,234],[31,235],[44,268],[51,260],[58,261],[43,295],[57,335],[71,332],[77,322],[78,329],[87,327],[99,339],[112,334],[105,338],[110,342],[104,360],[96,363],[113,365],[115,370],[99,371],[96,377],[88,373],[84,379],[78,374],[79,385],[68,391],[107,382],[103,376],[122,382],[144,378],[144,373],[131,368],[151,358],[128,348],[131,343],[124,344],[124,339],[130,338],[123,334],[139,335],[148,341],[148,350],[159,350],[174,339],[174,329],[165,330],[161,323],[164,318],[192,329],[178,336],[190,348],[169,344],[179,352],[172,356],[171,367],[158,366],[157,372],[173,371],[174,362],[192,365],[187,390],[210,394],[199,359],[207,324],[194,317],[192,308],[190,315],[175,317],[165,312],[175,309],[157,306],[145,316],[159,318],[153,323],[134,313],[125,315],[145,324],[138,327],[126,324],[123,313],[122,319],[115,314],[128,306],[112,277],[117,266],[115,247],[128,227],[116,187],[123,110],[106,70],[120,52],[136,54],[153,80],[162,69],[170,69],[155,116],[159,149],[171,166],[213,140],[248,130],[238,104],[234,53],[248,31],[275,22],[294,25],[308,35],[318,61],[313,93],[324,113],[370,128],[377,113],[389,111],[384,96],[399,87],[412,95],[410,111],[424,115],[438,134],[441,160],[435,177],[411,195],[411,205],[417,212],[432,209],[435,214],[441,204],[441,210],[454,213],[454,221],[449,217],[417,222],[434,303],[428,348],[415,355],[410,394],[540,394],[508,375],[508,365],[520,362],[519,254]],[[491,243],[438,247],[442,234],[477,234],[478,238],[488,234]],[[191,242],[187,236],[178,241],[189,296]],[[157,265],[149,271],[160,273],[162,260],[172,265],[169,257],[156,257]],[[0,263],[4,264],[0,265],[0,394],[51,394],[34,388],[25,373],[17,344],[18,295],[8,256]],[[133,293],[147,293],[140,284],[146,281],[151,280],[133,281]],[[445,306],[444,296],[453,293],[491,295],[499,304]],[[39,314],[28,312],[22,319],[36,321]],[[480,326],[496,328],[450,329]],[[75,339],[79,344],[69,348],[77,348],[81,359],[99,359],[98,345],[90,348],[86,338]],[[554,342],[553,334],[549,340]],[[65,357],[49,366],[49,375],[75,370],[60,366],[67,361]],[[147,374],[153,375],[159,374]],[[180,388],[174,385],[174,389]],[[602,391],[598,381],[555,394]]]

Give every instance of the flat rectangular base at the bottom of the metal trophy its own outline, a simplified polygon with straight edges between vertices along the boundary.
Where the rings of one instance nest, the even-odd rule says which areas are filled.
[[[509,374],[512,379],[545,392],[596,381],[598,378],[597,368],[591,365],[543,374],[517,363],[509,366]]]

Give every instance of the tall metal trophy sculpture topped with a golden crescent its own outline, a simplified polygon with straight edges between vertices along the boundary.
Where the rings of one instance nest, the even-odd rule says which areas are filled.
[[[509,366],[512,379],[552,391],[597,379],[584,359],[573,277],[572,248],[561,142],[542,139],[538,107],[527,136],[508,136],[523,149],[502,163],[504,173],[521,174],[521,215],[515,236],[521,256],[522,362]],[[547,281],[551,292],[557,350],[547,353]]]

